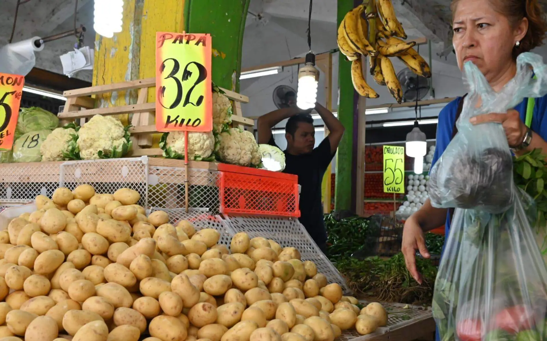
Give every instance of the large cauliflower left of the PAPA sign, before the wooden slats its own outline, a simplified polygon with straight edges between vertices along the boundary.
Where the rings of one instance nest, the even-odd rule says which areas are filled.
[[[122,157],[131,148],[129,127],[112,116],[95,115],[78,131],[78,148],[82,160]]]

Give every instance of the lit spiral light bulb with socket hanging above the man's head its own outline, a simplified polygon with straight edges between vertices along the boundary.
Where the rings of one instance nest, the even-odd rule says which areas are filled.
[[[298,70],[298,93],[296,94],[296,105],[302,109],[315,108],[317,102],[317,81],[319,70],[315,67],[315,55],[309,52],[306,55],[306,64]]]

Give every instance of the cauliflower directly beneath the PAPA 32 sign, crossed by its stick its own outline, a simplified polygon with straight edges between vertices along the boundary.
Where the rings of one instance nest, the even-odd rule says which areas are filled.
[[[160,147],[164,156],[184,160],[184,132],[165,133]],[[188,158],[195,161],[212,161],[214,136],[212,132],[188,132]]]

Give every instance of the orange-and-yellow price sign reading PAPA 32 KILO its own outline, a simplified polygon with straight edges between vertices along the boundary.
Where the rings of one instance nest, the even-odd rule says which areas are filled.
[[[156,130],[211,131],[211,35],[156,33]]]

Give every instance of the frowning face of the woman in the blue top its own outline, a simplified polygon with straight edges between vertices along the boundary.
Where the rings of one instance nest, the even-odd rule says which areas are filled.
[[[527,21],[513,28],[489,0],[460,0],[454,13],[452,43],[459,69],[473,62],[488,81],[498,77],[513,62],[517,41],[526,34]]]

